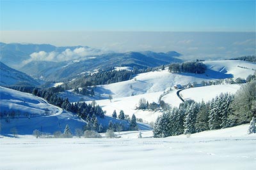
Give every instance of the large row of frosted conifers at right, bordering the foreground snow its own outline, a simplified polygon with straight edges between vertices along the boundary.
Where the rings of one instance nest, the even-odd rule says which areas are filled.
[[[154,137],[193,134],[250,122],[256,115],[256,81],[243,85],[236,95],[220,94],[209,103],[185,101],[158,117]]]

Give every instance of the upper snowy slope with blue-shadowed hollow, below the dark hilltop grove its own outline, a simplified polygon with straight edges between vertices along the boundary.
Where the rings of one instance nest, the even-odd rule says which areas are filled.
[[[188,83],[201,83],[202,81],[218,80],[224,78],[246,78],[256,70],[256,64],[241,60],[220,60],[204,62],[207,71],[204,74],[179,73],[173,74],[165,70],[141,73],[132,80],[98,86],[104,89],[104,96],[112,94],[113,97],[127,97],[150,92],[163,92],[176,84],[186,85]]]

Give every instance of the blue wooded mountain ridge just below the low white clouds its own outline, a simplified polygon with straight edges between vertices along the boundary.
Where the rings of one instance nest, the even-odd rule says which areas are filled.
[[[61,81],[81,76],[81,73],[95,69],[107,69],[116,66],[129,66],[146,69],[156,67],[170,62],[181,62],[176,56],[181,54],[175,52],[125,52],[125,53],[104,53],[93,55],[85,60],[73,60],[65,62],[32,61],[20,68],[24,73],[34,78],[43,78],[45,81]],[[51,71],[51,74],[49,72]]]

